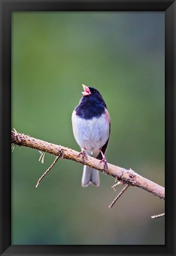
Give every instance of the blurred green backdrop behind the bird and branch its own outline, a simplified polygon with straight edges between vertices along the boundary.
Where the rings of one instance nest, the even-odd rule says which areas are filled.
[[[106,159],[164,186],[164,12],[14,12],[12,128],[80,151],[71,113],[82,84],[97,88],[111,117]],[[83,166],[16,147],[12,244],[164,244],[164,201],[100,174],[82,188]]]

